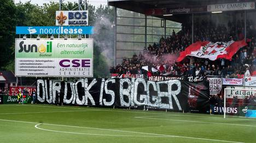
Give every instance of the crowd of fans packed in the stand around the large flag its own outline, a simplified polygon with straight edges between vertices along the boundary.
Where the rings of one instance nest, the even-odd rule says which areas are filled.
[[[195,22],[194,41],[228,42],[230,40],[244,39],[244,21],[215,24],[212,21],[202,20]],[[176,63],[178,54],[191,44],[191,28],[183,25],[181,31],[166,39],[163,37],[159,43],[145,47],[143,52],[134,54],[132,58],[124,58],[121,64],[110,67],[110,73],[119,74],[142,74],[147,73],[143,66],[153,74],[170,76],[237,76],[245,74],[251,76],[255,68],[256,43],[253,22],[247,21],[248,46],[241,48],[232,60],[208,59],[187,57],[182,62]]]

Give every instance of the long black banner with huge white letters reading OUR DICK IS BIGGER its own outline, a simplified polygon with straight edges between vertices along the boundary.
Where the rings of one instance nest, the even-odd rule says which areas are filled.
[[[134,107],[147,105],[156,109],[189,111],[190,88],[196,90],[197,107],[208,105],[209,86],[171,79],[153,82],[144,78],[80,78],[76,81],[37,80],[37,99],[41,103],[54,104],[57,94],[63,95],[63,103],[71,105],[97,105]],[[59,100],[59,98],[57,99]],[[195,107],[193,107],[195,108]]]

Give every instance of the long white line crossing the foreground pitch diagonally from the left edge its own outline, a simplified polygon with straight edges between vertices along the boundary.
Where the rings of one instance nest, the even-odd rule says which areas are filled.
[[[16,121],[16,120],[4,120],[0,119],[0,121],[9,121],[9,122],[22,122],[22,123],[33,123],[33,124],[41,124],[37,122],[26,122],[26,121]],[[101,130],[110,130],[110,131],[117,131],[117,132],[127,132],[127,133],[140,133],[140,134],[150,134],[150,135],[159,135],[163,137],[176,137],[176,138],[185,138],[185,139],[197,139],[197,140],[208,140],[208,141],[218,141],[218,142],[231,142],[231,143],[245,143],[245,142],[237,142],[237,141],[226,141],[226,140],[214,140],[214,139],[204,139],[204,138],[194,138],[189,136],[177,136],[177,135],[165,135],[165,134],[154,134],[154,133],[142,133],[142,132],[132,132],[126,130],[116,130],[116,129],[104,129],[104,128],[91,128],[91,127],[79,127],[79,126],[68,126],[68,125],[56,125],[51,123],[44,123],[44,125],[53,125],[53,126],[65,126],[65,127],[76,127],[76,128],[89,128],[89,129],[101,129]]]

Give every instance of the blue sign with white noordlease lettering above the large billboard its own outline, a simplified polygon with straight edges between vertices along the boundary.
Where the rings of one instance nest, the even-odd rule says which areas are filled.
[[[16,34],[94,34],[93,26],[16,26]]]

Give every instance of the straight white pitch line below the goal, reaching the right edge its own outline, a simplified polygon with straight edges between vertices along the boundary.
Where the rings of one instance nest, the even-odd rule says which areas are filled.
[[[153,119],[153,120],[167,120],[167,121],[179,121],[179,122],[195,122],[195,123],[211,123],[211,124],[219,124],[219,125],[234,125],[234,126],[246,126],[246,127],[256,127],[254,125],[242,125],[235,123],[218,123],[218,122],[203,122],[203,121],[190,121],[190,120],[174,120],[174,119],[161,119],[161,118],[153,118],[153,117],[136,117],[140,119]]]

